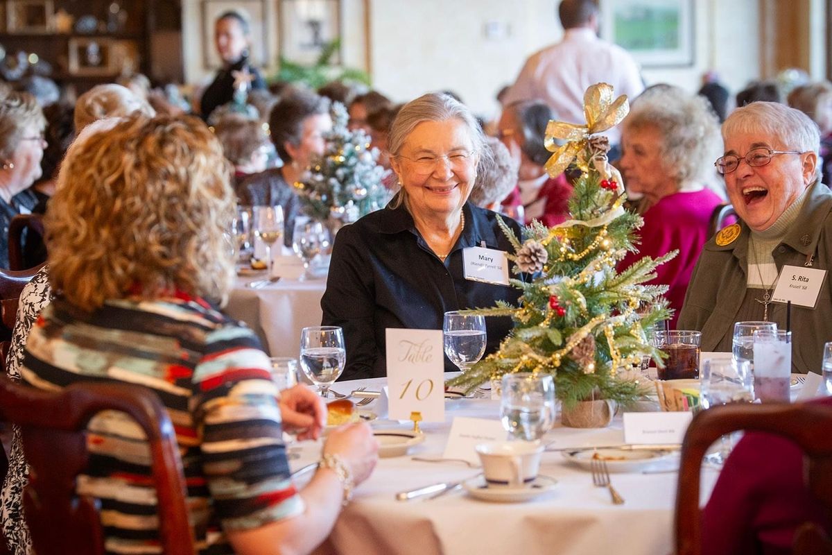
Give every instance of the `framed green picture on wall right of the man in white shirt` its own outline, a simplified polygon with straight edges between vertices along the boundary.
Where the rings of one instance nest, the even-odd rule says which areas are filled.
[[[643,67],[692,66],[693,0],[602,0],[601,34]]]

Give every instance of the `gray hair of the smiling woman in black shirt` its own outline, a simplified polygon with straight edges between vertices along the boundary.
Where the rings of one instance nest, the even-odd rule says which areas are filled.
[[[486,146],[483,128],[467,106],[443,92],[428,92],[428,94],[408,102],[399,110],[387,136],[390,156],[399,156],[404,141],[407,141],[410,133],[414,131],[418,124],[424,121],[448,121],[453,119],[462,121],[468,127],[468,134],[471,136],[471,141],[473,141],[474,151],[479,154],[477,166],[479,173],[483,165],[493,163],[491,161],[491,149]],[[390,206],[399,206],[404,201],[405,196],[407,196],[407,193],[403,188]]]

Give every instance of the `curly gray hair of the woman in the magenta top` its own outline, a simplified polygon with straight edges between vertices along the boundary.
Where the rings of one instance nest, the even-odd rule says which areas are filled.
[[[622,134],[645,128],[661,134],[661,158],[680,184],[705,178],[722,150],[719,123],[708,101],[679,87],[654,87],[632,102]]]

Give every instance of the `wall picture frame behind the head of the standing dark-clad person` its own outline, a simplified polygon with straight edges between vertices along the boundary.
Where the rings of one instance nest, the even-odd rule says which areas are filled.
[[[214,45],[214,26],[216,18],[230,10],[240,12],[240,15],[249,20],[251,64],[255,67],[268,66],[270,52],[265,0],[202,0],[202,65],[206,69],[222,67],[222,60]]]

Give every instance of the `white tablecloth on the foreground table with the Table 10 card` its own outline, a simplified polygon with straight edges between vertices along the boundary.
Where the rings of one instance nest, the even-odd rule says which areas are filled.
[[[337,383],[334,389],[349,393],[364,384],[378,390],[383,382],[356,380]],[[453,401],[448,404],[445,423],[423,424],[426,440],[410,455],[441,456],[454,417],[498,419],[498,411],[498,401]],[[557,424],[544,441],[554,442],[552,448],[622,444],[622,420],[618,417],[606,429],[569,429]],[[293,468],[319,456],[320,444],[301,445],[301,457],[292,461]],[[421,463],[410,455],[379,460],[318,553],[671,553],[676,473],[612,474],[613,485],[626,499],[617,506],[611,503],[607,488],[592,485],[591,473],[573,467],[561,453],[547,452],[540,473],[556,478],[558,486],[546,497],[527,503],[487,503],[457,490],[433,500],[399,502],[394,499],[396,492],[478,473],[463,463]],[[716,472],[703,471],[703,502],[715,481]]]

